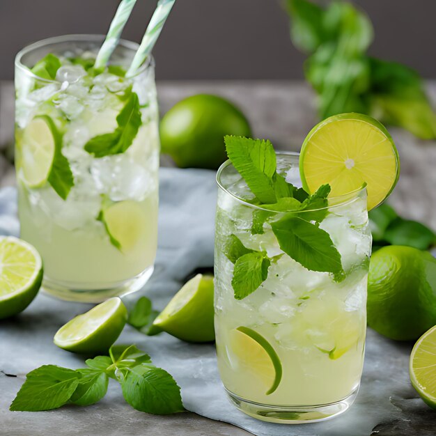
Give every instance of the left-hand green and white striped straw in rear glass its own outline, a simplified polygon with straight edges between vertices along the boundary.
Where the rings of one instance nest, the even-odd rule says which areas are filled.
[[[101,72],[106,67],[111,54],[118,45],[121,33],[123,33],[124,26],[127,23],[130,13],[132,13],[134,3],[136,2],[137,0],[123,0],[121,1],[120,6],[118,6],[114,20],[112,20],[109,31],[107,32],[106,39],[95,59],[94,69],[96,71]]]

